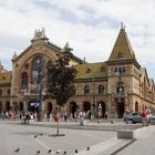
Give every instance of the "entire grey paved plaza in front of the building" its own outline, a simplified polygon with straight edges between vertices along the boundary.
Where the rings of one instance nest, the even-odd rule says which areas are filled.
[[[138,130],[135,130],[134,125]],[[140,127],[138,124],[85,123],[84,126],[80,126],[74,122],[61,122],[60,133],[65,136],[60,137],[51,136],[56,133],[54,126],[54,123],[49,122],[21,124],[19,121],[1,121],[0,155],[64,155],[64,152],[66,155],[73,155],[75,149],[78,149],[78,155],[131,155],[137,151],[142,154],[143,149],[147,152],[147,155],[155,153],[153,147],[155,126],[153,125],[148,127],[140,125]],[[116,131],[123,127],[136,131],[137,140],[134,142],[133,140],[117,140]],[[145,141],[148,143],[141,146]],[[17,148],[20,151],[14,152]],[[49,153],[49,149],[52,151]],[[40,153],[37,153],[38,151]],[[138,152],[135,155],[138,155]]]

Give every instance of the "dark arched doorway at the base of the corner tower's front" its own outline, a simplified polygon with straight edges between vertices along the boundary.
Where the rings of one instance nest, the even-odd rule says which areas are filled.
[[[121,99],[120,101],[116,100],[116,111],[117,111],[117,117],[122,118],[124,114],[124,99]]]

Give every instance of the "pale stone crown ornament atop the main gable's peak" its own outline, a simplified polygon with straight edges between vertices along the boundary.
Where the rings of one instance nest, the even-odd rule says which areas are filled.
[[[45,37],[45,29],[42,28],[42,30],[35,30],[34,31],[34,38],[31,40],[31,42],[38,41],[38,40],[44,40],[48,41],[49,39]]]

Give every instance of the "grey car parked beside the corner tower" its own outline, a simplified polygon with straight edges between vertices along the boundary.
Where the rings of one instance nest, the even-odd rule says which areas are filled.
[[[142,114],[138,112],[135,113],[125,113],[124,122],[126,123],[142,123]]]

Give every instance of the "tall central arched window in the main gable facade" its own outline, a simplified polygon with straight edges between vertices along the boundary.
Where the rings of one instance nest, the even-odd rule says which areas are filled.
[[[43,59],[41,55],[32,60],[32,84],[39,84],[40,78],[43,75]]]

